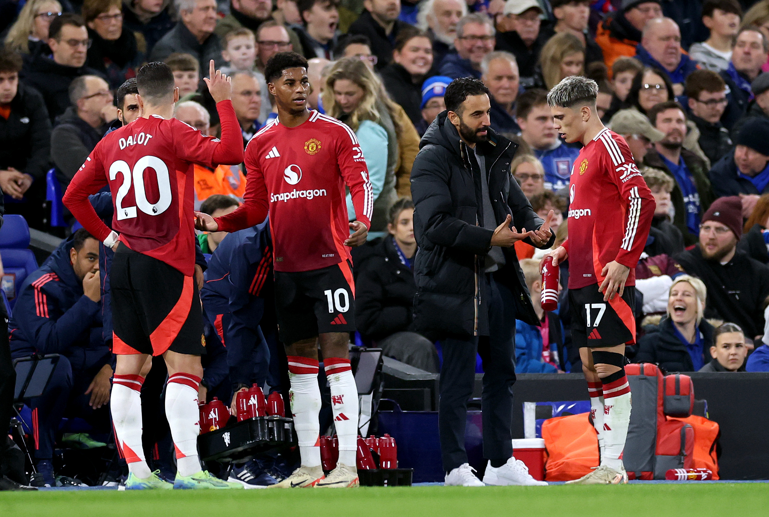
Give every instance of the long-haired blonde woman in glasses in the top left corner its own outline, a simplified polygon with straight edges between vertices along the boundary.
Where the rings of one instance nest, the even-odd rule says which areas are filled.
[[[29,0],[8,29],[5,46],[22,54],[35,54],[40,47],[46,46],[48,28],[60,15],[62,5],[56,0]]]

